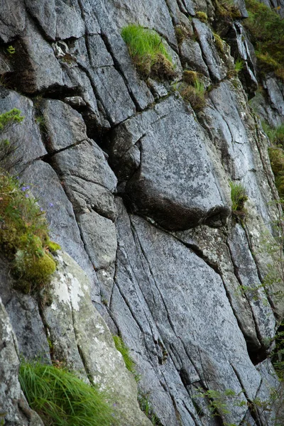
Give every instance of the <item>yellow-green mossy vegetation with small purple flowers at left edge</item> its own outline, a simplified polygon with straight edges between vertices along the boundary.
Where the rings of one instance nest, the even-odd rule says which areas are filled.
[[[20,114],[16,109],[1,114],[0,132],[4,134],[13,124],[21,123]],[[11,261],[18,288],[29,293],[48,282],[56,269],[51,252],[60,246],[50,241],[45,212],[30,186],[7,171],[18,162],[14,157],[17,148],[7,139],[0,140],[0,247]]]

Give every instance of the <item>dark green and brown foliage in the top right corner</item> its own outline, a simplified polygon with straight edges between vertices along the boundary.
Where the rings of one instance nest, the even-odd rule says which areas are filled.
[[[256,56],[263,72],[275,71],[281,78],[284,67],[284,20],[257,0],[246,0],[249,18],[244,26],[251,33]]]

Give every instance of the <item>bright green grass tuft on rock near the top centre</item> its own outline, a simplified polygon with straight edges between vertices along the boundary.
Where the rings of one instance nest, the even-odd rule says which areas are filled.
[[[142,77],[157,77],[161,80],[175,78],[173,60],[158,33],[132,24],[122,28],[121,36]]]

